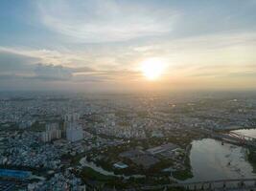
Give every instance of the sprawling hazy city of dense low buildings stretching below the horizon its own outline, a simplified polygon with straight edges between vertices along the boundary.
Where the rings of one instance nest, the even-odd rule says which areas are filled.
[[[185,95],[1,94],[0,175],[28,190],[163,190],[255,179],[256,142],[245,140],[256,135],[256,93]],[[228,173],[200,176],[211,170],[208,162]]]

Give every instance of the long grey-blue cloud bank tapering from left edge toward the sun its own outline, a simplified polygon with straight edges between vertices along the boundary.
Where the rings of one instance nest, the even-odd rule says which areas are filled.
[[[0,51],[0,80],[2,87],[15,84],[102,83],[139,77],[129,70],[96,70],[91,67],[65,67],[41,62],[40,58],[21,53]]]

